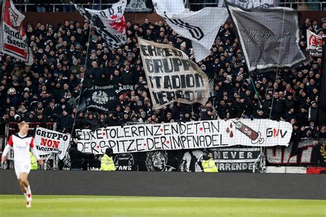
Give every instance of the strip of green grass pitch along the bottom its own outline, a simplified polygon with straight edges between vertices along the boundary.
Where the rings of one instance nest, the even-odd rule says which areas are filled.
[[[0,216],[326,216],[326,201],[132,196],[0,195]]]

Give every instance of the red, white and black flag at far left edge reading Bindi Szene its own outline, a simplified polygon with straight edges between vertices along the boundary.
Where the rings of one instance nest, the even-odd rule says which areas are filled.
[[[23,19],[25,16],[14,7],[12,0],[4,0],[0,22],[0,52],[25,61],[32,65],[32,49],[28,47],[28,38],[25,34]]]

